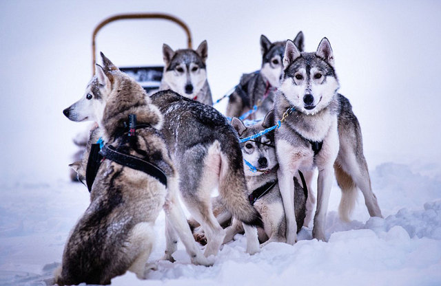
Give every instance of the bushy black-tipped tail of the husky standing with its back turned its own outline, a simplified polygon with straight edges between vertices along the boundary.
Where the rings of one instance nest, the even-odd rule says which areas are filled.
[[[235,143],[238,145],[238,142]],[[232,147],[236,148],[229,149],[228,153],[220,153],[219,195],[223,199],[227,210],[232,212],[236,219],[246,225],[263,227],[262,217],[247,197],[247,183],[243,171],[240,146]],[[229,154],[229,156],[226,154]]]

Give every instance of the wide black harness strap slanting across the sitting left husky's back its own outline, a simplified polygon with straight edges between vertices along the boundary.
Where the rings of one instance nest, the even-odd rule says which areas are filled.
[[[160,181],[164,186],[167,187],[167,176],[158,166],[139,157],[121,153],[114,147],[107,144],[103,146],[99,153],[103,155],[105,159],[110,159],[117,164],[127,166],[134,170],[141,170],[144,173],[155,177],[156,179],[158,179],[158,181]]]

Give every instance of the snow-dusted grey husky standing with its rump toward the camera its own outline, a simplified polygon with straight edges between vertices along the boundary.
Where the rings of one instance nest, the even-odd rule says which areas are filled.
[[[243,222],[247,252],[258,252],[255,226],[262,226],[262,221],[246,196],[242,153],[233,126],[213,107],[170,90],[159,91],[151,99],[164,115],[163,134],[178,170],[181,197],[205,230],[205,256],[217,254],[225,236],[212,210],[211,193],[216,186],[227,210]],[[166,255],[171,255],[176,243],[167,241],[167,249]]]

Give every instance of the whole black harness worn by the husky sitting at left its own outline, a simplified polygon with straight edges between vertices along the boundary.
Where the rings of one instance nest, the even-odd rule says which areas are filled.
[[[150,125],[146,124],[136,124],[136,115],[129,115],[129,129],[127,136],[129,140],[136,140],[136,129],[145,128]],[[127,130],[127,128],[126,128]],[[125,131],[127,133],[127,131]],[[101,149],[101,150],[100,150]],[[101,162],[104,159],[110,159],[116,164],[120,164],[122,166],[126,166],[132,168],[134,170],[141,170],[144,173],[151,175],[152,177],[158,179],[165,187],[167,187],[167,176],[155,164],[146,161],[140,157],[136,157],[134,155],[130,155],[119,151],[117,148],[110,146],[109,144],[105,144],[102,148],[100,148],[100,144],[92,144],[90,148],[90,155],[88,159],[88,165],[85,170],[85,181],[88,186],[89,192],[92,190],[92,185],[94,184],[94,180],[96,174],[98,173],[99,166],[101,166]]]

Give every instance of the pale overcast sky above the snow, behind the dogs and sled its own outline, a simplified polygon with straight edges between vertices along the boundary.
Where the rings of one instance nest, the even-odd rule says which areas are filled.
[[[0,1],[0,182],[65,179],[72,137],[85,124],[62,110],[91,76],[91,36],[105,17],[167,12],[207,39],[214,98],[260,67],[260,34],[305,34],[307,51],[327,36],[340,92],[362,125],[370,167],[441,158],[440,1]],[[162,63],[161,46],[185,47],[165,21],[112,23],[98,48],[116,65]]]

